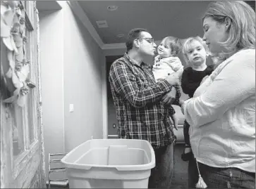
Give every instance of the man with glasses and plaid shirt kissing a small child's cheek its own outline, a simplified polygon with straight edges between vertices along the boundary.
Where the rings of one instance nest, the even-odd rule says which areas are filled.
[[[165,103],[178,100],[173,86],[178,75],[155,81],[152,66],[145,63],[154,57],[156,44],[147,30],[135,28],[128,33],[127,51],[114,61],[109,72],[111,92],[116,106],[118,137],[147,140],[154,148],[156,167],[152,169],[149,188],[171,186],[171,143],[176,140]]]

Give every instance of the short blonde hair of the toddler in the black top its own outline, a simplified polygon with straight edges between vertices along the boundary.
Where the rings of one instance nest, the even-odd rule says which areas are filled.
[[[209,55],[209,49],[207,48],[205,41],[203,41],[201,37],[199,36],[189,37],[188,39],[185,40],[185,43],[183,44],[183,49],[182,49],[183,57],[187,65],[189,65],[188,51],[190,50],[191,44],[193,44],[193,42],[195,41],[198,41],[200,44],[202,44],[202,46],[205,48],[206,53]]]

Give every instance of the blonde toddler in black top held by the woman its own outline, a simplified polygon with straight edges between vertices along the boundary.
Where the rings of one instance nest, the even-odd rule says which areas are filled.
[[[190,65],[186,67],[181,79],[181,88],[183,93],[188,94],[190,98],[193,97],[195,90],[204,77],[209,76],[214,70],[213,65],[206,65],[206,58],[208,56],[207,46],[200,37],[189,37],[183,45],[183,56],[185,62]],[[181,158],[183,161],[188,161],[193,157],[192,150],[190,148],[189,130],[190,125],[184,121],[183,135],[185,141],[185,149]]]

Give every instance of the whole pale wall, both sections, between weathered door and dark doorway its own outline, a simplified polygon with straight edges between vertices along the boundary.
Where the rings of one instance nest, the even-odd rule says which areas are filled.
[[[44,148],[69,152],[91,138],[102,138],[102,81],[105,58],[71,8],[39,11]],[[74,112],[69,112],[69,104]],[[59,176],[58,176],[59,177]]]

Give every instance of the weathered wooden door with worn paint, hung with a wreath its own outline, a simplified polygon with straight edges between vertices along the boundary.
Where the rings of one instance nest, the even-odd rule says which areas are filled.
[[[6,6],[8,6],[8,8],[12,7],[9,4]],[[35,96],[32,96],[32,98],[25,96],[26,103],[24,106],[21,105],[22,107],[19,107],[19,109],[13,107],[14,105],[11,105],[11,101],[4,103],[2,101],[4,98],[1,96],[1,152],[4,152],[4,154],[1,155],[1,188],[46,188],[44,157],[42,156],[44,155],[41,111],[42,98],[40,87],[36,87],[36,85],[40,86],[39,18],[36,1],[18,1],[18,8],[16,8],[16,10],[18,11],[15,13],[21,16],[20,31],[23,32],[21,37],[23,37],[23,40],[25,39],[24,36],[28,39],[28,41],[24,43],[25,45],[22,44],[21,47],[19,46],[19,48],[22,48],[20,52],[23,53],[21,58],[23,58],[23,60],[31,60],[32,63],[29,68],[30,77],[28,78],[30,81],[26,80],[26,83],[30,88],[30,93],[34,93]],[[22,23],[21,18],[23,18],[25,22]],[[35,28],[37,31],[35,31]],[[7,48],[6,45],[2,44],[2,40],[1,47],[3,48],[1,49],[1,54],[6,53]],[[10,53],[12,50],[8,52]],[[18,60],[22,60],[21,58]],[[4,59],[4,62],[6,60],[7,59]],[[3,73],[1,72],[3,75],[5,73],[5,71]],[[8,93],[6,89],[1,92]],[[32,104],[28,104],[28,99],[32,100],[30,102]],[[17,116],[20,118],[18,120],[16,119],[16,110],[21,111]],[[29,111],[32,111],[32,113]],[[32,117],[29,117],[29,115]],[[32,122],[29,122],[30,119],[32,119]],[[22,120],[22,122],[19,122],[20,120]],[[13,125],[18,125],[15,122],[19,122],[19,125],[22,126],[21,130],[17,131],[20,135],[17,137],[18,139],[15,140],[20,140],[21,143],[18,144],[22,146],[22,150],[18,152],[17,156],[13,155]],[[29,126],[32,126],[32,138],[30,138],[31,133]]]

